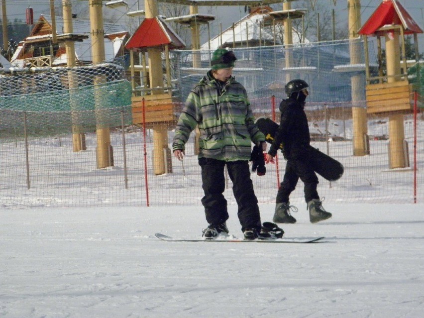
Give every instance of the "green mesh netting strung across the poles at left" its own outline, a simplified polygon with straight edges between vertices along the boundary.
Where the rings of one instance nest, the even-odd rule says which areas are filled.
[[[96,86],[0,97],[0,138],[29,138],[132,123],[131,84],[120,80]],[[26,121],[25,121],[26,117]]]

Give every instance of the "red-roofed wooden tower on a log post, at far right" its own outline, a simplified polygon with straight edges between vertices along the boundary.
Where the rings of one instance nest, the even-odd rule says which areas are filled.
[[[423,33],[423,30],[397,0],[383,1],[359,31],[359,34],[364,36],[365,44],[367,113],[389,116],[391,169],[410,166],[408,144],[405,140],[404,114],[411,113],[413,106],[412,87],[408,82],[405,35],[414,35],[418,59],[417,33]],[[385,38],[386,75],[383,75],[379,63],[379,76],[370,76],[366,36],[377,36],[379,62],[382,59],[381,37]],[[372,83],[373,81],[378,83]]]

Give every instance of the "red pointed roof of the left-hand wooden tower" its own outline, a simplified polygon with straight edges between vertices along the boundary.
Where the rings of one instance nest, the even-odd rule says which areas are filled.
[[[145,18],[125,48],[148,48],[168,44],[170,49],[184,48],[186,44],[174,30],[160,17]]]

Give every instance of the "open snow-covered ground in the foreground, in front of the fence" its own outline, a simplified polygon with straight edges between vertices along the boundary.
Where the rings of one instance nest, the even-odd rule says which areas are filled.
[[[201,206],[0,210],[0,317],[423,317],[424,205],[324,207],[327,221],[300,204],[283,224],[318,244],[154,236],[200,236]]]

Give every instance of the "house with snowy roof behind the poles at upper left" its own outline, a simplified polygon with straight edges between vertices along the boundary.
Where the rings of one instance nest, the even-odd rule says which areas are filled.
[[[13,67],[53,67],[66,66],[64,40],[75,41],[77,65],[92,63],[91,26],[89,20],[73,19],[73,33],[66,34],[64,20],[56,16],[58,43],[52,42],[52,24],[49,15],[41,15],[29,36],[19,42],[10,64]],[[104,23],[106,61],[124,55],[124,43],[129,33],[121,25]]]

